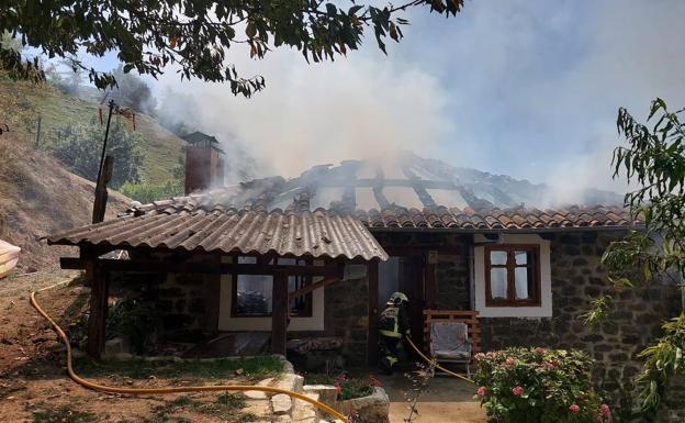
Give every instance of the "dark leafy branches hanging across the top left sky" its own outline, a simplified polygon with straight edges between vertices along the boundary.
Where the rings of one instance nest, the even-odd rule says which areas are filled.
[[[0,33],[9,32],[24,46],[46,57],[72,58],[72,66],[89,71],[98,87],[114,85],[111,74],[87,68],[78,54],[103,56],[114,52],[124,71],[157,77],[176,65],[181,78],[229,82],[246,97],[265,87],[260,76],[242,77],[227,53],[236,44],[249,56],[263,58],[281,46],[296,48],[310,62],[321,62],[358,49],[372,31],[385,52],[390,37],[402,38],[397,16],[413,7],[456,15],[463,0],[414,0],[384,7],[324,0],[7,0],[0,5]],[[0,44],[0,65],[15,78],[41,79],[37,57],[23,58]]]

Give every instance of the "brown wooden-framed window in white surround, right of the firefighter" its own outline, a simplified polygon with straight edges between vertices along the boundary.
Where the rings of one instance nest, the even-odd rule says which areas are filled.
[[[496,245],[485,248],[485,305],[540,305],[538,245]]]

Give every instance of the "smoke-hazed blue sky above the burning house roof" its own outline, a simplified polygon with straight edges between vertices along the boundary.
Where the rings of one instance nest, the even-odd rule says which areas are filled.
[[[388,55],[372,36],[335,63],[278,49],[228,57],[267,79],[228,87],[150,80],[164,113],[252,152],[266,172],[393,148],[560,187],[611,181],[619,107],[644,118],[661,97],[685,107],[681,0],[467,0],[456,18],[414,8]]]

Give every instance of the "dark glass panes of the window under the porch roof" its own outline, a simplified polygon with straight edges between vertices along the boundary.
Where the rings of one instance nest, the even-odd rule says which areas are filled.
[[[257,264],[257,257],[238,257],[239,264]],[[274,260],[266,266],[272,265]],[[279,258],[279,265],[307,264],[306,260],[295,258]],[[234,318],[263,318],[270,316],[272,311],[273,276],[271,275],[234,275],[232,315]],[[312,282],[312,277],[289,276],[288,292],[295,292]],[[292,316],[312,316],[312,293],[295,298],[291,302]]]

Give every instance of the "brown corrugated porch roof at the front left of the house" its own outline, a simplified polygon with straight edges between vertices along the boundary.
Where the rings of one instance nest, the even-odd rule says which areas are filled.
[[[137,215],[136,215],[137,214]],[[281,256],[361,257],[388,254],[350,215],[167,208],[88,225],[48,238],[49,244],[153,247]]]

